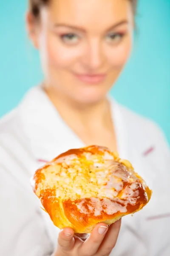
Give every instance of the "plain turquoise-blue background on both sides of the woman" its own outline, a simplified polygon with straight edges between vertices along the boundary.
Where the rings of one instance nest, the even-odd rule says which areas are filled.
[[[27,1],[0,1],[0,116],[42,79],[25,29]],[[112,90],[122,104],[155,120],[170,142],[170,0],[140,0],[132,57]]]

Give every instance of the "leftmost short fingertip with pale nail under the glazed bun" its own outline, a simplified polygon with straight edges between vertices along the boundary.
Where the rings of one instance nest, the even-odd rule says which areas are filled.
[[[74,247],[74,231],[66,227],[60,231],[58,244],[63,250],[71,250]]]

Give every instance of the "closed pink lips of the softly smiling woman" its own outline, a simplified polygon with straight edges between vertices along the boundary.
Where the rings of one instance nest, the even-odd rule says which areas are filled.
[[[105,80],[106,75],[105,74],[94,74],[94,75],[88,75],[88,74],[75,74],[75,76],[82,82],[88,83],[88,84],[99,84],[102,81]]]

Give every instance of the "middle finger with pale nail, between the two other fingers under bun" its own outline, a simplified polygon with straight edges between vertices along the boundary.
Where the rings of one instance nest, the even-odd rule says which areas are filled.
[[[94,230],[91,232],[91,235],[86,239],[86,241],[79,248],[80,255],[94,255],[99,249],[100,244],[102,243],[105,234],[108,231],[108,225],[105,223],[99,223],[96,225]]]

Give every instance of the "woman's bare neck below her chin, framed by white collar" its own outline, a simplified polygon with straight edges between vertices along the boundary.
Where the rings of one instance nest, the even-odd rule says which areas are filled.
[[[53,88],[44,87],[44,90],[62,119],[74,131],[91,130],[107,126],[110,122],[110,106],[106,97],[99,102],[85,104],[75,102]]]

